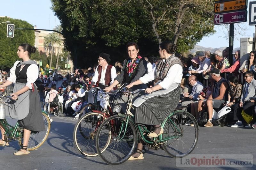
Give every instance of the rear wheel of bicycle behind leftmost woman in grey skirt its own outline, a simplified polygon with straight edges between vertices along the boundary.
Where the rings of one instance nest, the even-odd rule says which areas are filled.
[[[42,112],[43,120],[44,120],[44,126],[45,130],[44,131],[31,131],[29,140],[28,140],[28,150],[32,151],[37,148],[39,148],[47,139],[50,128],[51,128],[51,123],[48,115],[46,115],[44,112]],[[20,146],[22,146],[21,140],[19,141]]]

